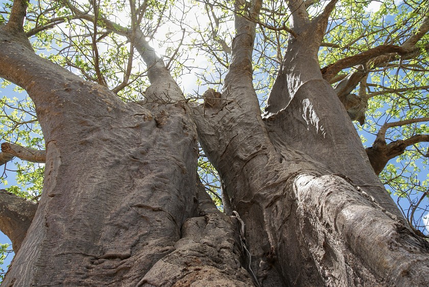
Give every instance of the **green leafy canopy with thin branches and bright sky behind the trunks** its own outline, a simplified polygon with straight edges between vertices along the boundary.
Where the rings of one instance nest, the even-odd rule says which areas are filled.
[[[146,94],[154,79],[150,68],[162,62],[186,100],[204,101],[204,109],[219,101],[225,101],[228,108],[230,100],[220,99],[218,92],[231,69],[234,45],[240,45],[233,42],[235,11],[256,23],[252,77],[260,113],[265,115],[271,113],[265,107],[276,104],[268,101],[268,95],[282,69],[288,43],[297,33],[304,33],[294,28],[300,21],[326,21],[321,45],[310,47],[318,50],[323,79],[335,89],[354,121],[375,173],[404,218],[416,234],[429,233],[429,219],[424,219],[429,218],[426,0],[306,0],[290,1],[289,6],[284,1],[245,0],[19,2],[2,2],[0,26],[21,17],[31,49],[39,56],[110,89],[124,102],[145,104],[179,101],[170,94],[162,99]],[[20,6],[27,6],[27,12]],[[293,14],[307,17],[291,20]],[[324,27],[320,24],[319,29]],[[1,182],[7,192],[38,201],[45,142],[35,107],[7,77],[2,89]],[[21,93],[15,95],[12,89]],[[199,153],[200,178],[223,208],[216,169],[202,150]]]

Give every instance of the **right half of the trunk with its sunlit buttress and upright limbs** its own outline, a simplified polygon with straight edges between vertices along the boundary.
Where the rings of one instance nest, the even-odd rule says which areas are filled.
[[[299,3],[291,5],[298,13]],[[423,286],[426,276],[411,267],[428,270],[428,245],[371,170],[320,73],[313,47],[321,37],[312,36],[323,20],[296,17],[299,37],[289,42],[263,121],[249,80],[232,68],[224,104],[194,111],[205,154],[246,224],[256,277],[263,286]]]

